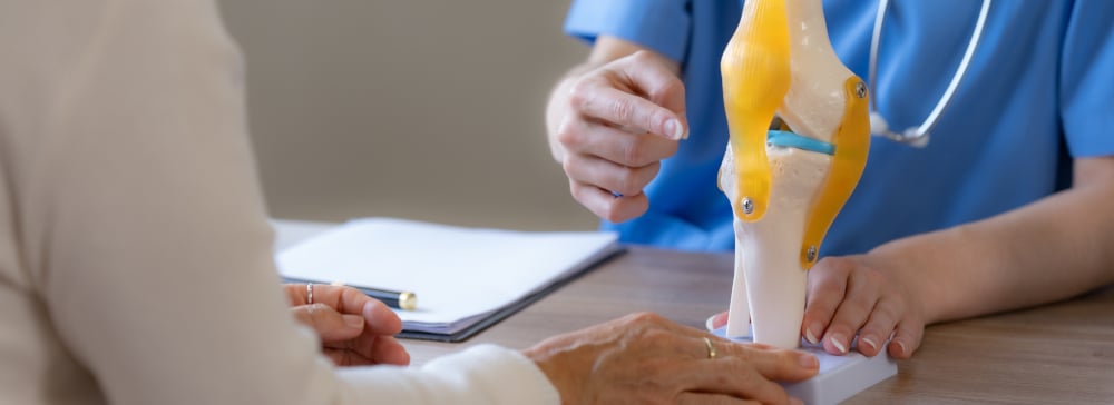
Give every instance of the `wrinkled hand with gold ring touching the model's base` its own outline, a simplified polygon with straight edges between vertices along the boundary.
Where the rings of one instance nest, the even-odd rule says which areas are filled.
[[[648,313],[557,336],[524,354],[566,404],[786,404],[791,398],[773,381],[801,381],[819,367],[809,354],[729,342]]]

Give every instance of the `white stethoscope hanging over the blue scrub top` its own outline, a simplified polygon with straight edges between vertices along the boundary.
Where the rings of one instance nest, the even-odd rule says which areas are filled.
[[[878,48],[879,42],[881,42],[882,37],[882,22],[886,20],[886,9],[889,6],[889,0],[879,0],[878,2],[878,16],[874,17],[874,32],[870,38],[870,88],[874,88],[874,79],[878,71]],[[901,132],[893,132],[890,130],[890,126],[886,122],[886,118],[878,112],[878,106],[874,97],[870,98],[870,132],[886,137],[890,140],[910,145],[913,147],[925,147],[928,145],[929,131],[932,127],[940,121],[940,115],[944,110],[948,108],[951,103],[951,99],[956,93],[956,88],[959,87],[959,82],[964,80],[964,76],[967,75],[967,67],[970,65],[971,57],[975,55],[975,49],[978,48],[979,41],[983,38],[983,28],[986,24],[986,14],[990,10],[990,0],[983,0],[983,8],[979,10],[978,21],[975,22],[975,30],[971,33],[970,41],[967,42],[967,50],[964,51],[964,58],[959,61],[959,67],[956,68],[956,73],[951,76],[951,82],[948,83],[948,88],[944,90],[944,95],[940,96],[940,101],[936,103],[936,108],[932,108],[932,112],[929,112],[928,117],[925,118],[925,122],[921,122],[919,127],[909,127]]]

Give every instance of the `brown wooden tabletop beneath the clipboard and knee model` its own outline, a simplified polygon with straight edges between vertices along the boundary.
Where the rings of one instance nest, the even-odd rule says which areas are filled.
[[[649,310],[703,328],[727,306],[731,255],[632,248],[461,344],[403,340],[412,363],[546,337]],[[1114,404],[1114,288],[1065,303],[930,326],[896,377],[847,404]]]

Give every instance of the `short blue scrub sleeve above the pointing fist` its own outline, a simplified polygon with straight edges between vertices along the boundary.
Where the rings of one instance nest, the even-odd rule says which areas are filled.
[[[680,63],[688,51],[691,24],[685,0],[575,0],[565,33],[588,42],[602,34],[622,38]]]

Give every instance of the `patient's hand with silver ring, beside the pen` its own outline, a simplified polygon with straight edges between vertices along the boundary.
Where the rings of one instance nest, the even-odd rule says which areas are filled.
[[[321,350],[338,366],[408,365],[410,354],[393,335],[402,320],[385,304],[352,287],[284,284],[291,315],[321,339]]]

